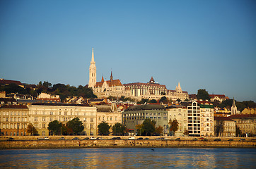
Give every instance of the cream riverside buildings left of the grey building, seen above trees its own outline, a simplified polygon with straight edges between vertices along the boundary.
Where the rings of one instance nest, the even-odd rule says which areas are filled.
[[[116,104],[105,106],[88,106],[84,104],[33,103],[19,105],[16,102],[0,106],[1,134],[6,136],[28,135],[28,124],[32,124],[39,135],[49,135],[48,124],[54,120],[68,123],[79,118],[83,123],[84,134],[97,135],[97,126],[103,121],[111,127],[122,123],[122,113]]]

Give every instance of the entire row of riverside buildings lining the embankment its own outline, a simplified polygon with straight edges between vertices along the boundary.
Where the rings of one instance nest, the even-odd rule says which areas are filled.
[[[156,127],[163,127],[163,134],[170,133],[170,120],[178,120],[175,135],[216,136],[216,126],[222,123],[219,133],[225,137],[235,137],[235,125],[241,134],[256,134],[256,115],[253,112],[238,114],[235,102],[232,114],[219,116],[208,101],[182,102],[180,105],[163,106],[161,104],[134,105],[120,111],[117,104],[88,106],[86,104],[32,103],[19,105],[15,99],[1,100],[0,129],[6,136],[28,135],[28,124],[33,124],[38,134],[49,135],[48,124],[53,120],[67,123],[79,118],[84,126],[84,134],[97,135],[98,125],[122,123],[130,134],[135,134],[136,125],[147,118],[156,121]],[[8,100],[8,101],[7,101]],[[110,131],[111,132],[111,131]]]

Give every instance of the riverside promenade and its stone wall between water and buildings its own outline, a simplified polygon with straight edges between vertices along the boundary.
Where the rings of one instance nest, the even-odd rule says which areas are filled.
[[[64,137],[64,139],[60,139]],[[74,139],[76,137],[76,139]],[[256,148],[255,138],[240,137],[128,137],[128,136],[41,136],[0,137],[0,149],[66,149],[66,148]]]

